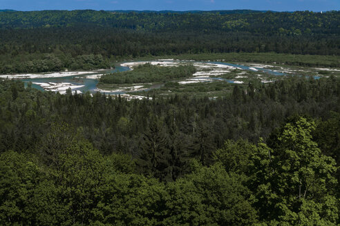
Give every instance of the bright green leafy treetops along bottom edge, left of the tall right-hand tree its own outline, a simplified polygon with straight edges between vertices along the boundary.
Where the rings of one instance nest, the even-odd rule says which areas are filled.
[[[15,152],[1,154],[3,225],[252,225],[242,176],[202,167],[164,185],[115,170],[85,141],[60,154],[60,167],[38,167]],[[117,162],[117,161],[116,161]],[[129,164],[129,163],[128,163]]]

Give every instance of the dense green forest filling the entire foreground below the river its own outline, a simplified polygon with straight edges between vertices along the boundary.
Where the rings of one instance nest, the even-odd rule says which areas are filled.
[[[0,82],[1,225],[337,225],[340,81],[215,100]]]

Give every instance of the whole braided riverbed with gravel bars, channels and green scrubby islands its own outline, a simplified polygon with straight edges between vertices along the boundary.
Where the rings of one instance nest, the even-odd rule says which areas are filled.
[[[140,70],[141,65],[151,65],[145,70],[143,78],[145,81],[135,82],[133,74]],[[163,73],[162,68],[180,68],[191,66],[195,70],[188,76],[164,76],[171,74],[172,70]],[[135,68],[138,70],[134,70]],[[147,67],[148,68],[148,67]],[[126,72],[131,70],[130,72]],[[151,70],[151,71],[150,71]],[[115,72],[123,72],[115,74]],[[150,72],[150,73],[149,73]],[[113,79],[118,75],[129,75],[129,82],[120,83],[98,83],[103,74],[111,74]],[[148,79],[153,74],[155,80]],[[155,61],[133,61],[117,63],[115,70],[95,70],[89,72],[55,72],[49,74],[19,74],[12,75],[16,79],[23,79],[26,83],[32,82],[32,86],[46,91],[66,93],[70,88],[72,92],[102,92],[108,95],[136,94],[139,96],[153,96],[153,94],[169,95],[180,93],[201,93],[208,96],[221,96],[228,94],[232,85],[248,83],[272,83],[282,76],[321,76],[340,75],[339,68],[308,68],[301,66],[288,66],[271,63],[225,63],[222,61],[193,61],[191,59],[158,59]],[[4,75],[2,75],[4,77]],[[0,76],[1,78],[1,76]],[[104,77],[103,77],[104,78]],[[134,79],[138,79],[135,77]],[[142,78],[142,79],[143,79]],[[130,81],[131,80],[131,81]],[[202,84],[202,85],[201,85]]]

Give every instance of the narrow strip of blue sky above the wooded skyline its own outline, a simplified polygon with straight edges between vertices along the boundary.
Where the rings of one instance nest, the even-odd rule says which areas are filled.
[[[0,0],[13,10],[340,10],[340,0]]]

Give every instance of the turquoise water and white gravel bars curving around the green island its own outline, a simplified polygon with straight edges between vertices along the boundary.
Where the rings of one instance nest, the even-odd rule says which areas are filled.
[[[161,65],[171,65],[171,64],[176,64],[176,63],[193,63],[194,65],[202,68],[205,68],[201,72],[201,74],[209,74],[209,70],[207,70],[209,67],[212,70],[215,70],[214,68],[234,68],[238,70],[244,70],[244,71],[253,71],[253,72],[265,72],[270,75],[285,75],[283,72],[277,72],[275,70],[270,70],[267,68],[256,68],[256,67],[249,67],[246,65],[236,65],[232,63],[222,63],[222,62],[211,62],[211,61],[175,61],[175,60],[164,60],[164,61],[148,61],[154,64],[160,63]],[[130,62],[130,63],[122,63],[119,65],[116,65],[114,69],[111,70],[97,70],[93,72],[60,72],[60,76],[58,74],[18,74],[18,75],[2,75],[1,77],[8,77],[10,78],[15,78],[15,79],[22,79],[22,81],[28,85],[28,83],[32,83],[32,88],[36,88],[38,90],[44,91],[44,90],[51,90],[54,92],[60,92],[60,93],[65,93],[68,88],[71,88],[73,92],[77,90],[78,93],[84,93],[84,92],[103,92],[106,94],[124,94],[126,92],[133,92],[133,91],[122,91],[118,90],[113,92],[110,92],[110,90],[98,90],[97,89],[97,83],[99,82],[98,79],[101,74],[107,74],[107,73],[115,73],[115,72],[124,72],[127,70],[131,70],[131,65],[134,64],[140,64],[142,62],[140,61],[135,61],[135,62]],[[126,66],[127,65],[127,66]],[[129,68],[130,67],[130,68]],[[201,68],[201,69],[202,69]],[[216,72],[216,71],[214,71]],[[64,73],[64,74],[63,74]],[[68,73],[70,76],[68,76]],[[205,76],[195,76],[191,78],[191,81],[182,81],[183,84],[187,83],[193,83],[194,81],[192,80],[222,80],[222,81],[227,81],[229,83],[241,83],[239,81],[235,81],[232,79],[223,79],[218,76],[214,77],[208,77],[207,75]],[[147,88],[144,90],[151,90],[155,88],[160,88],[162,84],[158,85],[153,85],[151,88]]]

